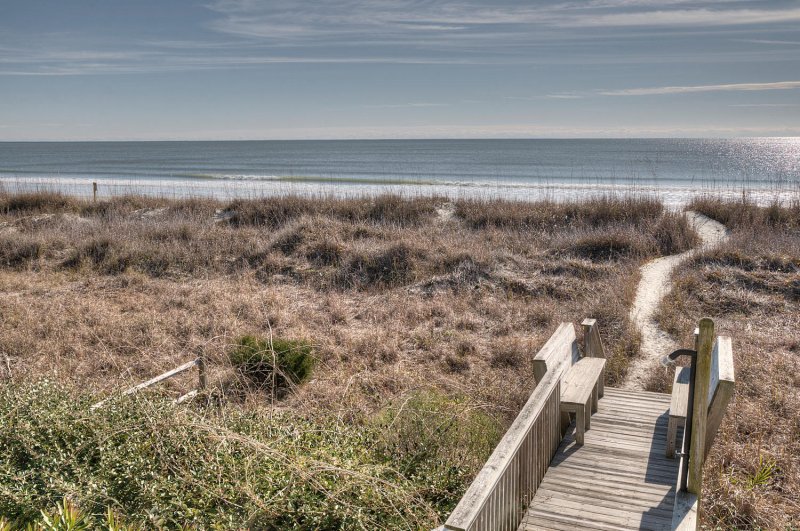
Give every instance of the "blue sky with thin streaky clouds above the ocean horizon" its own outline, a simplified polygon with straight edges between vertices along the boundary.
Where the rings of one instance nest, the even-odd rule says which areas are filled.
[[[774,135],[796,0],[0,4],[0,140]]]

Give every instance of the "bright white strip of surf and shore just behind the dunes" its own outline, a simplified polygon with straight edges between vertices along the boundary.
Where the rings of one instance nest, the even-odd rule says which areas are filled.
[[[92,197],[92,184],[98,185],[98,198],[142,195],[163,199],[259,199],[266,197],[359,198],[397,195],[406,198],[442,197],[450,200],[485,199],[519,202],[589,200],[597,196],[644,197],[657,199],[670,209],[681,209],[693,199],[706,196],[732,201],[745,198],[759,206],[790,204],[800,199],[800,188],[768,186],[722,186],[709,183],[697,187],[616,183],[553,183],[336,177],[275,177],[269,179],[171,178],[109,179],[93,177],[0,178],[0,193],[61,193],[78,198]]]

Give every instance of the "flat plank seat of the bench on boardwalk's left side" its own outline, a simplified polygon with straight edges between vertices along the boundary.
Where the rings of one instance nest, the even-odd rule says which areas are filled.
[[[561,411],[575,414],[575,442],[583,444],[583,434],[590,428],[592,413],[604,392],[606,360],[581,358],[569,368],[561,382]]]

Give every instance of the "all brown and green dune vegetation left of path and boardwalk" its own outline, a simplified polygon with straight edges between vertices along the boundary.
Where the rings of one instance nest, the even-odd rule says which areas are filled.
[[[66,496],[94,522],[111,507],[168,527],[434,527],[557,324],[597,318],[620,381],[638,266],[694,242],[682,216],[635,198],[0,195],[3,422],[20,428],[3,444],[37,449],[2,475],[0,514],[31,521]],[[307,341],[313,371],[285,394],[242,385],[243,336]],[[82,407],[199,354],[209,407],[168,405],[190,376],[162,399]],[[34,402],[55,385],[43,378],[56,398]]]

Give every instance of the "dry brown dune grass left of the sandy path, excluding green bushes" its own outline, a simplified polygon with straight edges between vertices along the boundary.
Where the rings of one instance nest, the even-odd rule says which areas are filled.
[[[321,362],[286,406],[348,416],[434,387],[508,420],[559,321],[598,318],[622,378],[637,266],[693,243],[650,200],[442,203],[0,196],[0,373],[111,391],[271,330]]]

